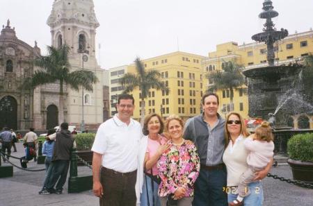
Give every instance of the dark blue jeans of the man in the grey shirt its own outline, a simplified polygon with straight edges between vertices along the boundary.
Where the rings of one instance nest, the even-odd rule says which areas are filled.
[[[228,206],[226,187],[226,168],[216,170],[200,169],[199,177],[195,181],[195,196],[193,206]]]

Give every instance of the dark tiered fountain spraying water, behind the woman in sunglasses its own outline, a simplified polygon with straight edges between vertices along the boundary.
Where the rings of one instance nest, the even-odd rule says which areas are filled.
[[[290,130],[287,118],[294,114],[312,112],[312,105],[303,107],[303,84],[300,75],[303,69],[297,62],[289,65],[275,65],[274,44],[287,37],[288,31],[276,31],[272,18],[278,16],[271,0],[264,0],[259,18],[266,19],[263,32],[252,36],[252,40],[264,42],[267,46],[266,67],[245,69],[248,78],[249,116],[268,119],[275,135],[275,154],[286,155],[287,141],[292,135],[309,130]],[[307,111],[311,110],[311,111]],[[312,132],[310,130],[309,132]],[[286,159],[285,159],[286,160]]]

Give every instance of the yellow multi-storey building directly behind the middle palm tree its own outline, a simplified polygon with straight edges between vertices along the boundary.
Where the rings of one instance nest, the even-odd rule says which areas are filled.
[[[178,114],[183,119],[199,114],[203,89],[201,64],[204,58],[201,55],[177,51],[141,60],[145,69],[159,71],[161,80],[170,88],[168,94],[150,89],[145,99],[145,114],[162,114],[164,119],[170,114]],[[129,65],[127,72],[136,73],[135,65]],[[140,120],[141,92],[136,88],[131,94],[136,105],[133,117]]]

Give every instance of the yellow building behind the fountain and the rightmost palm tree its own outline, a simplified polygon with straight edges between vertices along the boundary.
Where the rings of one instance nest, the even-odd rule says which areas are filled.
[[[303,61],[303,57],[313,53],[313,31],[295,33],[280,40],[275,44],[275,64],[288,65],[290,62]],[[266,62],[266,44],[253,42],[249,44],[238,45],[236,42],[226,42],[218,44],[216,51],[209,52],[208,58],[203,60],[202,69],[204,76],[207,72],[215,69],[222,69],[223,65],[230,60],[243,65],[246,69],[249,67],[264,67]],[[212,83],[207,78],[203,78],[204,90]],[[244,118],[248,118],[248,96],[245,92],[246,86],[234,91],[234,110],[240,112]],[[220,112],[230,112],[229,91],[217,91],[220,96]],[[224,108],[224,110],[223,110]],[[229,110],[228,110],[229,109]],[[308,117],[312,120],[312,117]],[[312,124],[312,123],[311,123]]]

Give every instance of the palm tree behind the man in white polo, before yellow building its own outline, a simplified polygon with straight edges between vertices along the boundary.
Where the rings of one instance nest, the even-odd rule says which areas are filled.
[[[151,69],[145,71],[145,67],[139,58],[135,60],[137,74],[125,74],[120,80],[120,83],[125,87],[124,93],[132,92],[136,87],[141,90],[141,125],[145,119],[145,98],[149,94],[149,89],[154,87],[157,90],[169,92],[170,89],[159,80],[161,74],[159,71]]]

